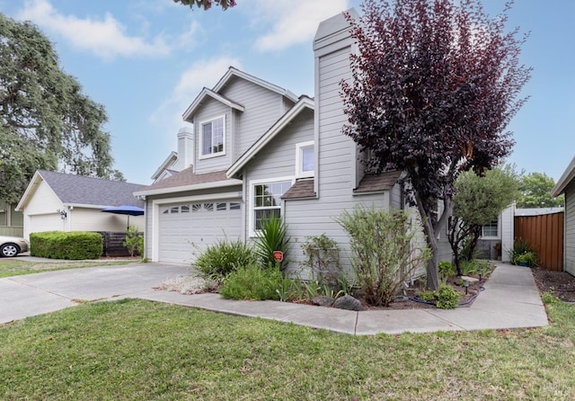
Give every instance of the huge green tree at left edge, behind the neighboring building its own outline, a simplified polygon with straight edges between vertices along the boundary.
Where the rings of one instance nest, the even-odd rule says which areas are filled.
[[[106,120],[38,28],[0,13],[0,199],[17,202],[39,168],[122,179]]]

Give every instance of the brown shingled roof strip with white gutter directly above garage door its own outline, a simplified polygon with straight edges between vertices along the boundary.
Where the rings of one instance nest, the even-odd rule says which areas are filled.
[[[227,179],[226,171],[194,174],[193,166],[166,177],[164,180],[146,186],[135,192],[136,196],[160,195],[164,193],[196,191],[208,188],[220,188],[242,185],[241,180]]]

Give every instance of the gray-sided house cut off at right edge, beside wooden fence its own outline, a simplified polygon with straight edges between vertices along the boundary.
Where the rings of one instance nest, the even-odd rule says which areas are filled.
[[[575,275],[575,157],[551,192],[553,197],[562,193],[565,194],[563,269]]]

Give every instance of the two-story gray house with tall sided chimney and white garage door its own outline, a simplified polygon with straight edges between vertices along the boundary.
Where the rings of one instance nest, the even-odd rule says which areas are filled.
[[[349,268],[348,236],[334,218],[358,204],[403,208],[400,173],[368,174],[341,133],[340,82],[351,77],[353,51],[339,14],[314,38],[314,98],[234,67],[202,89],[183,114],[193,126],[191,165],[135,192],[146,199],[146,257],[190,263],[222,238],[250,241],[261,220],[275,215],[292,238],[291,268],[304,259],[305,237],[323,233],[341,245]]]

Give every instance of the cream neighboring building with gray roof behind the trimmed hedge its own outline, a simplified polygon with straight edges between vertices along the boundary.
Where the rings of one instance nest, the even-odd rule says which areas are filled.
[[[132,194],[144,185],[103,180],[75,174],[38,170],[16,210],[23,212],[24,237],[41,231],[124,232],[128,217],[104,213],[121,205],[144,207]],[[130,226],[144,230],[143,216],[130,217]]]

